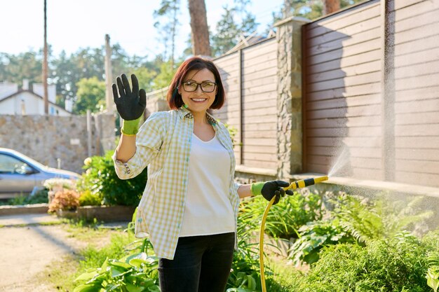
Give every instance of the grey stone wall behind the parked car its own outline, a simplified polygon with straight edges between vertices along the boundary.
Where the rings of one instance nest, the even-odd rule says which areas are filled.
[[[114,116],[102,114],[90,120],[92,155],[100,155],[101,141],[114,141]],[[0,147],[19,151],[49,167],[60,164],[62,169],[81,173],[88,157],[87,118],[0,115]]]

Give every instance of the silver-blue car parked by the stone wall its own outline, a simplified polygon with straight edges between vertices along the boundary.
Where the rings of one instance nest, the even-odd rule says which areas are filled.
[[[18,151],[0,148],[0,199],[29,195],[53,178],[78,179],[79,174],[47,167]]]

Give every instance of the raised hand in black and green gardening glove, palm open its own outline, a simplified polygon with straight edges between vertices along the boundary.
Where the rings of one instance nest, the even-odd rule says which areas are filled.
[[[140,118],[142,118],[144,109],[147,106],[147,93],[143,89],[139,90],[139,82],[134,74],[131,75],[133,90],[131,90],[125,74],[116,78],[116,83],[117,86],[113,83],[112,88],[114,104],[116,104],[117,112],[123,118],[121,131],[126,135],[135,135],[137,134]]]

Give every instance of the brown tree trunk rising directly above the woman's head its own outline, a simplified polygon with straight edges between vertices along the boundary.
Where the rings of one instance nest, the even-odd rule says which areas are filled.
[[[188,0],[191,16],[192,53],[210,56],[209,27],[204,0]]]

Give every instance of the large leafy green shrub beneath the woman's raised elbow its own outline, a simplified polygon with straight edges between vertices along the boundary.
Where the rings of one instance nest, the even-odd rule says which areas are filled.
[[[119,179],[114,170],[113,153],[107,151],[104,156],[87,158],[83,167],[86,172],[79,179],[78,188],[102,197],[103,204],[137,206],[147,183],[147,168],[133,179]]]

